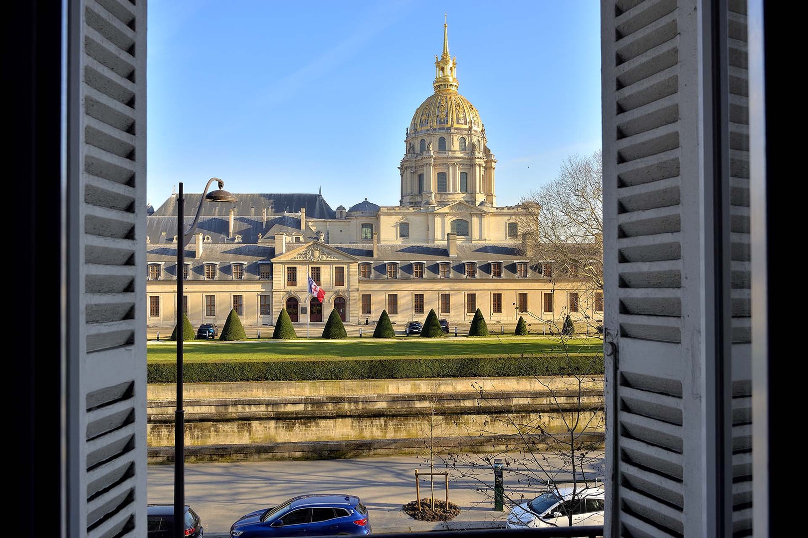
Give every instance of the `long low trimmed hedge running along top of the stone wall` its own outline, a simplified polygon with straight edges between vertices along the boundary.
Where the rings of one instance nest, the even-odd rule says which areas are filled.
[[[600,355],[579,357],[480,357],[347,359],[266,362],[186,362],[183,382],[322,381],[433,377],[525,377],[604,374]],[[146,365],[146,382],[174,383],[175,363]]]

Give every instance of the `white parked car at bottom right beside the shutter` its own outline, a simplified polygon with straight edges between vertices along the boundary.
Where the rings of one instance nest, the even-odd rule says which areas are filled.
[[[548,490],[536,498],[511,508],[507,528],[569,527],[604,524],[605,492],[602,488]]]

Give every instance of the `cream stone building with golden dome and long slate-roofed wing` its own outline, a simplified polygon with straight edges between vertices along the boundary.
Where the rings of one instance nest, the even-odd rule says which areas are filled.
[[[558,326],[568,312],[574,320],[583,321],[584,311],[602,319],[603,294],[584,297],[575,279],[553,278],[551,261],[528,262],[519,229],[523,210],[496,205],[497,161],[479,111],[458,86],[444,23],[433,92],[406,127],[397,206],[364,198],[332,210],[322,192],[234,194],[232,204],[186,193],[184,230],[202,206],[182,269],[176,194],[149,209],[149,336],[168,336],[175,326],[178,276],[195,327],[222,324],[234,308],[248,336],[271,327],[282,308],[299,336],[307,325],[319,336],[332,309],[349,334],[372,325],[383,310],[402,334],[407,322],[423,322],[431,309],[459,335],[478,308],[491,332],[512,332],[520,316],[531,332]],[[326,292],[322,302],[308,294],[309,275]]]

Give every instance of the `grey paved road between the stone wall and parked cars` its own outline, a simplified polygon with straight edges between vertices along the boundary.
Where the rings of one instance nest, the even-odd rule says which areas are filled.
[[[298,494],[322,492],[358,495],[368,507],[374,534],[504,526],[507,513],[494,511],[490,487],[478,490],[481,482],[493,483],[490,472],[449,474],[449,500],[461,507],[461,515],[451,522],[410,518],[402,506],[415,500],[415,469],[429,470],[418,457],[187,463],[185,501],[200,515],[205,536],[211,538],[226,536],[230,525],[249,511]],[[504,482],[508,495],[535,494],[535,489],[520,486],[507,473]],[[436,482],[436,498],[444,498],[444,488],[443,482]],[[421,497],[428,496],[428,482],[421,482]],[[148,501],[174,503],[174,465],[149,465]]]

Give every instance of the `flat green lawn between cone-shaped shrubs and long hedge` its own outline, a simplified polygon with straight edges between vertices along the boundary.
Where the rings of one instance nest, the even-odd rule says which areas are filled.
[[[151,342],[146,346],[146,357],[150,364],[176,362],[176,352],[176,343],[171,341]],[[305,361],[315,358],[530,357],[558,355],[563,352],[565,346],[558,337],[552,336],[250,339],[240,342],[190,340],[183,345],[183,362],[245,362],[273,359]],[[566,352],[574,355],[601,354],[603,340],[597,338],[566,340]]]

